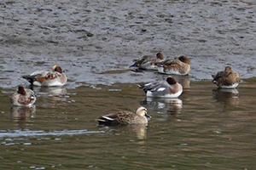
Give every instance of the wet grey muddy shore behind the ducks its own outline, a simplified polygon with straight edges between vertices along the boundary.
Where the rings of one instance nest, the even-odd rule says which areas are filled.
[[[256,76],[253,1],[62,1],[0,3],[0,88],[28,84],[32,71],[61,65],[68,88],[84,83],[148,82],[133,59],[161,51],[191,59],[191,80],[231,65]]]

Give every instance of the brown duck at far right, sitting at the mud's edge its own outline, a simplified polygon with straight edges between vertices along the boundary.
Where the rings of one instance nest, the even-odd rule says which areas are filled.
[[[236,88],[241,80],[239,74],[232,71],[230,66],[226,66],[224,71],[218,71],[212,78],[212,82],[219,88]]]

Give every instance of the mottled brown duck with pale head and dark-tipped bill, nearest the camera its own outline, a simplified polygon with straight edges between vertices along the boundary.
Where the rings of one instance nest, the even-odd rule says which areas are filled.
[[[148,110],[140,106],[135,112],[131,111],[119,111],[110,113],[105,116],[100,116],[96,121],[99,125],[129,125],[129,124],[148,124],[148,119],[151,116],[148,115]]]

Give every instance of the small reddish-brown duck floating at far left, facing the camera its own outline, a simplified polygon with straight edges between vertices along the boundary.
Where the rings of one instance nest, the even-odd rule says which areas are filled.
[[[32,106],[36,100],[35,93],[31,89],[24,88],[22,85],[19,85],[18,91],[11,96],[12,105],[17,106]]]

